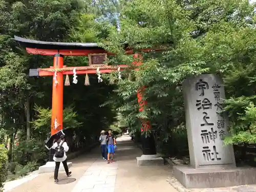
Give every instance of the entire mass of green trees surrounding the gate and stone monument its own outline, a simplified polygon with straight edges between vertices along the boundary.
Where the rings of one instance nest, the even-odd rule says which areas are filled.
[[[44,161],[46,155],[41,145],[50,132],[52,78],[30,78],[27,74],[30,68],[51,66],[52,58],[24,54],[12,39],[14,35],[50,41],[98,41],[116,53],[108,58],[108,64],[115,66],[132,66],[136,60],[125,54],[124,44],[143,56],[139,70],[122,71],[122,80],[116,72],[102,75],[103,83],[90,75],[91,86],[85,87],[84,77],[79,76],[77,84],[64,89],[63,125],[72,147],[84,140],[90,142],[103,127],[119,132],[116,119],[139,140],[140,118],[147,118],[154,125],[159,151],[170,154],[174,149],[172,155],[186,155],[181,83],[188,76],[222,76],[227,97],[224,111],[231,134],[225,142],[255,141],[254,7],[245,0],[0,0],[0,140],[10,144],[9,160],[24,166],[24,170],[17,167],[16,173],[26,174],[41,163],[29,162]],[[146,48],[164,51],[140,51]],[[88,66],[88,58],[68,57],[65,65]],[[108,86],[109,80],[116,85]],[[147,106],[139,112],[137,90],[142,86],[146,86],[143,99]],[[27,112],[31,138],[25,131],[29,128]],[[18,146],[13,146],[15,136]]]

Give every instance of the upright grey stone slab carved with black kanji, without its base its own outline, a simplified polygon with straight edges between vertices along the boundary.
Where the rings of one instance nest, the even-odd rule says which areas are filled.
[[[222,80],[214,74],[200,75],[184,80],[182,88],[191,166],[234,164],[232,146],[223,144],[227,118],[222,113]]]

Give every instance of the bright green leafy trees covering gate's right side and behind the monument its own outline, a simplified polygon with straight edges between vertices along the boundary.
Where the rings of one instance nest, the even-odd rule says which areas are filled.
[[[253,132],[254,111],[251,106],[250,110],[247,108],[250,102],[255,104],[256,17],[252,4],[238,0],[135,0],[121,7],[120,30],[109,26],[108,37],[101,40],[102,46],[117,54],[109,60],[112,65],[133,61],[124,53],[124,43],[143,56],[143,64],[139,70],[122,72],[123,78],[117,81],[114,90],[116,95],[112,102],[105,104],[113,105],[121,113],[130,130],[139,130],[138,117],[148,118],[156,124],[161,142],[182,137],[181,127],[185,124],[182,81],[189,76],[217,73],[225,79],[226,111],[230,124],[240,129],[236,135],[240,131]],[[165,51],[139,51],[159,47]],[[136,80],[127,78],[129,74]],[[117,75],[108,78],[117,80]],[[144,99],[148,104],[139,113],[136,90],[142,86],[146,86]],[[232,99],[236,103],[230,104]],[[176,131],[179,129],[181,132]],[[242,135],[239,136],[242,140]],[[253,141],[253,136],[248,140]],[[186,143],[185,137],[183,142]]]

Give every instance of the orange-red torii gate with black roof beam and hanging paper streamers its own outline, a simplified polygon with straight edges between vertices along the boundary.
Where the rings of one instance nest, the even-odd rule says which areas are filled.
[[[127,65],[119,65],[118,67],[107,66],[104,61],[107,55],[113,55],[100,48],[96,43],[77,43],[77,42],[50,42],[31,40],[18,36],[14,39],[21,47],[25,47],[27,53],[35,55],[53,56],[53,67],[42,69],[30,69],[29,76],[53,76],[52,87],[52,118],[51,118],[51,135],[54,135],[59,130],[63,129],[63,75],[74,75],[73,83],[76,83],[77,74],[98,74],[99,82],[102,81],[100,73],[111,73],[113,71],[121,71],[127,68]],[[144,52],[151,51],[150,49],[141,50]],[[126,54],[133,54],[132,49],[125,49]],[[67,67],[63,66],[64,56],[88,56],[89,66],[84,67]],[[134,54],[136,58],[138,55]],[[141,62],[134,62],[135,65],[141,65]],[[85,83],[88,85],[88,83]],[[138,102],[140,110],[143,111],[143,106],[146,101],[142,99],[144,88],[138,90]],[[151,129],[151,124],[148,120],[142,120],[141,131]],[[155,155],[156,147],[153,145],[153,139],[145,139],[143,144],[143,155]],[[52,159],[50,158],[50,161]]]

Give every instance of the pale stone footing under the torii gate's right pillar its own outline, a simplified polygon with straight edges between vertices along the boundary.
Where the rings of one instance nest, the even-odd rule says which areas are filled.
[[[139,166],[163,165],[163,158],[158,155],[142,155],[136,159]]]

